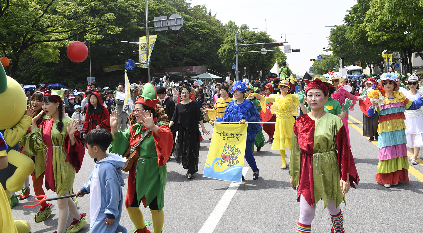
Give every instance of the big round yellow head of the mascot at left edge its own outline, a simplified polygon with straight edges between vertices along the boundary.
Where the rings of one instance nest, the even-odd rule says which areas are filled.
[[[25,114],[26,97],[19,83],[0,65],[0,130],[13,128]]]

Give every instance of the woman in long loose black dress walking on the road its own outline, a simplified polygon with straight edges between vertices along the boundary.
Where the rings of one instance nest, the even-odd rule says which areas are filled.
[[[190,100],[191,87],[184,86],[179,89],[181,102],[176,105],[169,127],[179,123],[178,138],[175,145],[175,157],[182,167],[187,169],[188,179],[194,178],[198,171],[198,154],[200,153],[200,132],[198,123],[204,135],[210,132],[203,125],[203,114],[195,101]]]

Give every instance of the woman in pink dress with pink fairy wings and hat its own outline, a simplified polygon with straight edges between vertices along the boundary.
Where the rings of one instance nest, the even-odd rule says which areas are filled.
[[[348,126],[348,109],[350,111],[354,110],[354,105],[356,101],[364,99],[366,95],[362,95],[362,96],[352,95],[350,93],[352,91],[352,87],[350,87],[349,85],[342,85],[342,83],[345,83],[344,82],[345,78],[335,76],[333,73],[331,73],[331,75],[332,77],[328,81],[332,81],[332,84],[335,87],[335,92],[333,92],[333,94],[330,95],[330,97],[332,97],[332,99],[334,100],[338,100],[339,104],[341,104],[342,106],[342,110],[346,112],[345,117],[342,118],[342,123],[345,126]],[[349,106],[345,102],[347,98],[352,100],[351,103],[348,104]],[[349,144],[349,147],[351,148],[351,143],[349,141],[349,129],[348,127],[345,127],[345,129],[348,135],[348,144]]]

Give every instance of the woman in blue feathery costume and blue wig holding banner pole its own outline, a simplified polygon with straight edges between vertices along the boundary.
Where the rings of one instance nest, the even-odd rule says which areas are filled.
[[[257,108],[250,100],[246,100],[244,96],[247,90],[247,85],[242,81],[237,81],[234,83],[231,93],[235,100],[232,100],[228,107],[225,108],[225,114],[223,117],[213,120],[217,122],[239,122],[239,124],[244,124],[246,122],[259,122],[260,114],[257,111]],[[255,159],[252,153],[252,146],[255,142],[255,135],[258,134],[261,130],[260,124],[248,124],[247,127],[247,143],[245,144],[245,155],[244,158],[247,160],[248,165],[250,165],[253,170],[253,179],[258,179],[258,168],[255,163]],[[242,177],[244,179],[244,177]]]

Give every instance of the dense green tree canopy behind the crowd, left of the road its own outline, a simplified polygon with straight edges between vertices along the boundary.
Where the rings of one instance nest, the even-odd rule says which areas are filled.
[[[145,13],[144,0],[0,0],[0,46],[3,56],[11,60],[6,72],[25,84],[49,81],[84,87],[85,77],[90,76],[89,58],[76,64],[66,55],[69,43],[78,40],[90,50],[91,76],[96,82],[101,86],[117,84],[122,81],[122,70],[104,73],[103,68],[123,65],[127,59],[138,60],[138,53],[133,52],[138,46],[119,42],[138,41],[146,35]],[[152,72],[190,65],[204,65],[220,73],[231,71],[222,61],[235,56],[233,44],[225,54],[219,49],[237,30],[248,26],[238,27],[232,21],[224,25],[205,5],[191,5],[186,0],[148,1],[149,20],[175,13],[184,18],[180,30],[149,30],[149,35],[158,35],[151,53]],[[253,34],[242,33],[244,37],[251,35],[250,41],[273,42],[266,33]],[[276,59],[286,59],[279,51],[253,59],[258,55],[242,56],[251,57],[242,64],[251,74],[270,69]],[[268,63],[265,58],[269,58]],[[260,63],[250,63],[253,60]],[[135,68],[128,76],[132,82],[147,81],[147,69]]]

